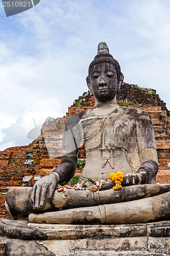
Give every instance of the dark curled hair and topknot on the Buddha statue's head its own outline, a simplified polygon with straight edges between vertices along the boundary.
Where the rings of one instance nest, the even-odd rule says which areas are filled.
[[[86,78],[87,83],[90,83],[90,71],[93,65],[100,62],[110,62],[114,65],[117,71],[117,78],[118,81],[120,80],[120,77],[123,75],[119,63],[116,59],[113,58],[113,56],[109,53],[109,48],[106,44],[106,42],[100,42],[98,45],[98,53],[95,55],[94,60],[90,63],[89,69],[88,69],[88,76]]]

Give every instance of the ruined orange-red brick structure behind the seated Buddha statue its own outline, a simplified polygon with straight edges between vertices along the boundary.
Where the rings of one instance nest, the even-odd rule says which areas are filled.
[[[68,108],[66,116],[47,118],[37,140],[28,146],[11,147],[0,152],[0,218],[10,218],[4,204],[9,187],[21,186],[23,183],[32,186],[37,179],[52,172],[60,164],[66,119],[74,113],[92,108],[94,102],[93,96],[84,93]],[[170,183],[170,113],[166,109],[166,104],[160,100],[155,90],[142,89],[128,83],[123,83],[120,88],[117,103],[143,109],[151,115],[159,160],[157,182]],[[26,165],[26,152],[30,150],[33,161]],[[79,159],[81,161],[85,158],[85,148],[82,145]],[[81,172],[82,168],[77,168],[76,175],[80,176]]]

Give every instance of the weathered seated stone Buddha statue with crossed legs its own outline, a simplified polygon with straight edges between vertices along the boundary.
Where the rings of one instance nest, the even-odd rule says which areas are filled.
[[[123,79],[117,60],[107,44],[100,42],[86,79],[95,105],[67,119],[61,163],[52,173],[38,180],[33,188],[8,191],[6,207],[14,219],[30,214],[31,222],[40,223],[137,223],[169,215],[169,207],[160,204],[160,197],[169,198],[170,187],[156,184],[158,159],[151,117],[143,110],[118,106],[116,94]],[[79,191],[64,187],[67,197],[63,197],[55,188],[74,176],[81,141],[86,164],[79,183],[97,180],[103,189],[95,193],[88,186]],[[113,190],[115,180],[110,180],[109,174],[119,171],[123,173],[119,182],[123,188]],[[158,207],[158,202],[164,210],[154,215],[152,207]],[[145,217],[141,214],[141,218],[137,217],[135,205],[140,212],[142,205],[149,207],[147,219],[142,219]],[[113,219],[113,212],[116,216],[122,214],[121,207],[123,220]],[[134,220],[127,220],[127,207]]]

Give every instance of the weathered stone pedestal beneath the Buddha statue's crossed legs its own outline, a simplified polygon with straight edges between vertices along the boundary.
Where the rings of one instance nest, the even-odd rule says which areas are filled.
[[[6,256],[170,254],[170,221],[57,225],[1,219],[0,234]]]

